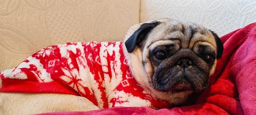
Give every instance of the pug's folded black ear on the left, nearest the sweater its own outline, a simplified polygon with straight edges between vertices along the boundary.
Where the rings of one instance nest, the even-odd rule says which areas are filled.
[[[125,42],[126,49],[129,53],[133,52],[135,47],[140,44],[140,42],[145,39],[147,34],[155,28],[155,26],[159,25],[158,21],[152,23],[143,23],[140,25],[140,28],[136,30]]]

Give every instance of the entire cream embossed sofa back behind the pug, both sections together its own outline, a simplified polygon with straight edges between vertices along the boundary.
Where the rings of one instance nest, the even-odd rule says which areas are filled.
[[[0,71],[66,42],[122,41],[134,23],[188,20],[227,34],[256,22],[255,0],[1,0]]]

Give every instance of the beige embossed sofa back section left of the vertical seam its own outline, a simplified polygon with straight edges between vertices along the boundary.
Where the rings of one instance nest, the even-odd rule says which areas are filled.
[[[46,46],[122,41],[139,14],[140,0],[3,0],[0,71]]]

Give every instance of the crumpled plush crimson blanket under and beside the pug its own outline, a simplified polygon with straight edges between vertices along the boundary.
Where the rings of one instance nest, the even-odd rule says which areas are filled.
[[[114,107],[86,112],[44,113],[44,115],[256,115],[256,23],[230,32],[221,39],[224,43],[224,53],[217,61],[215,74],[210,77],[211,85],[199,97],[195,95],[194,97],[198,99],[188,106],[159,110],[149,107]],[[3,75],[1,78],[4,78]],[[61,86],[64,87],[59,85]],[[77,92],[73,93],[77,94]]]

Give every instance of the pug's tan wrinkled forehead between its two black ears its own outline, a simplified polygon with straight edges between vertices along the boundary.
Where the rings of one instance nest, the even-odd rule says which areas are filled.
[[[168,40],[177,40],[183,48],[192,48],[197,41],[207,42],[210,46],[216,48],[215,38],[208,29],[188,21],[163,21],[162,19],[159,21],[159,25],[148,34],[148,38],[150,40],[147,41],[146,46],[153,43],[157,44],[158,42],[164,45],[168,44]]]

